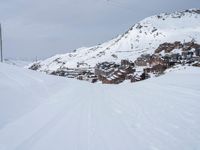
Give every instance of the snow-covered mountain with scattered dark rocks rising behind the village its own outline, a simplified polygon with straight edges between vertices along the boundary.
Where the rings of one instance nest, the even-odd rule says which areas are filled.
[[[141,54],[154,53],[164,42],[184,43],[192,40],[200,43],[200,9],[162,13],[136,23],[126,33],[111,41],[37,62],[37,70],[52,72],[63,67],[90,68],[104,61],[134,61]]]

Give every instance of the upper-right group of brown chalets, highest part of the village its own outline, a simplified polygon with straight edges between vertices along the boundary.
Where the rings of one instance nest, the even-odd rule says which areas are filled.
[[[200,45],[195,42],[163,43],[153,55],[141,55],[134,62],[136,66],[147,66],[145,73],[163,73],[167,68],[176,64],[192,64],[198,66],[200,63]]]

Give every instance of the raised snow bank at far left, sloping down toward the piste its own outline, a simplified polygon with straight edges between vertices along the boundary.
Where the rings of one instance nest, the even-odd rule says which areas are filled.
[[[0,63],[0,128],[65,86],[57,81],[45,74]]]

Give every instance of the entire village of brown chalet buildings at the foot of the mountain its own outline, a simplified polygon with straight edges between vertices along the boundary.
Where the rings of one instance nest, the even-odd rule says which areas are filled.
[[[176,64],[191,64],[200,67],[200,45],[194,41],[163,43],[159,45],[154,54],[143,54],[134,62],[129,60],[121,60],[120,64],[102,62],[98,63],[95,68],[61,67],[47,73],[92,83],[101,81],[104,84],[119,84],[124,80],[137,82],[149,78],[152,74],[163,74],[167,68]],[[81,66],[81,64],[78,65]],[[40,64],[36,63],[29,69],[38,70],[40,67]]]

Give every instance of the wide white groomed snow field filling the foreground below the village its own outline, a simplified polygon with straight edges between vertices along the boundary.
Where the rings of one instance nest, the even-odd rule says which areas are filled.
[[[199,77],[102,85],[0,64],[0,150],[199,150]]]

